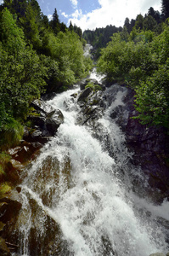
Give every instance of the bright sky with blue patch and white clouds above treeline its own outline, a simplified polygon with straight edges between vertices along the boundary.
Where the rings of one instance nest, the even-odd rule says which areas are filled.
[[[3,0],[0,0],[2,3]],[[37,0],[42,13],[51,19],[57,9],[59,20],[66,26],[72,24],[85,29],[107,25],[123,26],[126,18],[136,19],[146,14],[150,7],[161,11],[161,0]]]

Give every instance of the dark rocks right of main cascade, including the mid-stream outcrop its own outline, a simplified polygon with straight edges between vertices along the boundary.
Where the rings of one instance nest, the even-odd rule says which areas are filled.
[[[77,96],[81,107],[77,124],[92,127],[97,137],[96,121],[102,117],[105,108],[110,108],[111,119],[126,135],[127,148],[133,153],[132,164],[141,166],[148,177],[149,188],[160,189],[161,198],[169,197],[169,136],[165,129],[141,125],[138,119],[132,119],[137,115],[134,91],[125,86],[114,84],[104,92],[84,91],[80,94],[82,98]]]

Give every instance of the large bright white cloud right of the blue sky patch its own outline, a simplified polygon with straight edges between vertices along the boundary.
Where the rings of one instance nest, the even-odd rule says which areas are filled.
[[[99,0],[99,4],[99,9],[85,15],[82,10],[76,9],[70,18],[72,24],[80,26],[82,31],[110,24],[123,26],[126,18],[136,19],[137,15],[147,13],[150,7],[161,10],[161,0]]]

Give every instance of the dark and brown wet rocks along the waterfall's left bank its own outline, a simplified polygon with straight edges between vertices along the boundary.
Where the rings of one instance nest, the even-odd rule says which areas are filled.
[[[32,102],[35,115],[28,119],[31,121],[31,128],[25,127],[23,141],[16,148],[10,148],[8,154],[11,160],[5,166],[5,173],[0,182],[12,184],[17,189],[0,195],[0,254],[12,255],[17,252],[17,239],[13,236],[14,224],[21,208],[20,187],[18,186],[23,178],[22,171],[30,160],[34,160],[42,148],[51,137],[58,131],[59,125],[64,122],[64,116],[59,109],[55,110],[42,100]],[[18,187],[17,187],[18,186]]]

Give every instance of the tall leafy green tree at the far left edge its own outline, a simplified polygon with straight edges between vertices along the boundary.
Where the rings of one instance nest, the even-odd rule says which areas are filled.
[[[0,44],[1,122],[8,117],[24,118],[32,99],[45,85],[46,68],[38,55],[25,47],[24,33],[8,9],[3,10]]]

